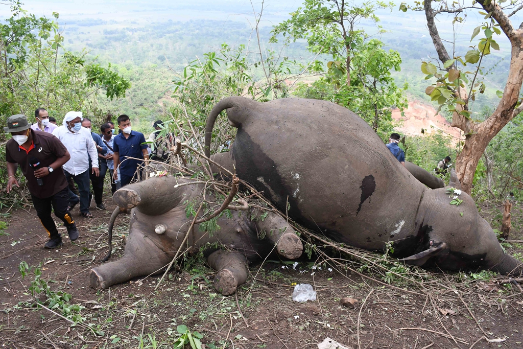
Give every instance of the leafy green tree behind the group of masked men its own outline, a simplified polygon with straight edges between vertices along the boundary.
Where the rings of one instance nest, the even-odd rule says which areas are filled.
[[[125,95],[129,81],[109,68],[87,62],[85,52],[63,48],[58,13],[54,18],[27,14],[17,2],[12,17],[0,23],[0,121],[12,114],[30,116],[39,107],[61,118],[69,110],[93,112],[96,95]]]

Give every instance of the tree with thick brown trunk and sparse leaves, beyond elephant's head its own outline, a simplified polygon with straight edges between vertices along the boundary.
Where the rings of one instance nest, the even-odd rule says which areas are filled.
[[[514,28],[509,19],[523,8],[523,2],[480,0],[473,1],[471,6],[464,6],[461,2],[425,0],[423,3],[416,2],[415,6],[404,3],[400,6],[404,12],[409,8],[423,11],[426,15],[429,34],[442,64],[438,69],[433,63],[422,63],[422,71],[427,74],[427,78],[434,77],[437,80],[427,87],[426,93],[440,107],[446,106],[452,112],[452,126],[465,134],[463,149],[456,159],[456,171],[463,189],[470,194],[476,166],[488,143],[523,110],[523,104],[520,103],[523,83],[523,27]],[[454,23],[462,22],[466,12],[474,9],[484,11],[479,13],[484,16],[485,21],[474,29],[471,41],[480,33],[482,35],[479,40],[476,39],[476,45],[464,55],[451,57],[439,35],[435,18],[440,14],[451,14]],[[485,91],[482,78],[485,58],[491,49],[499,50],[494,36],[502,35],[502,32],[511,46],[505,89],[498,92],[501,99],[492,114],[483,121],[474,120],[471,118],[469,102]]]

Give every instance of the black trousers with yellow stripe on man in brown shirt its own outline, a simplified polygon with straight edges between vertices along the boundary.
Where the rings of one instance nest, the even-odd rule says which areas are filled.
[[[54,209],[54,215],[64,222],[65,227],[70,227],[74,224],[73,218],[67,211],[67,206],[69,206],[69,188],[66,187],[48,198],[41,199],[32,194],[31,198],[38,218],[40,218],[49,238],[56,239],[61,236],[51,218],[51,207]]]

